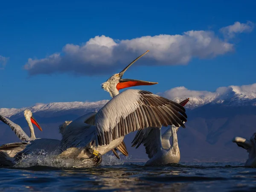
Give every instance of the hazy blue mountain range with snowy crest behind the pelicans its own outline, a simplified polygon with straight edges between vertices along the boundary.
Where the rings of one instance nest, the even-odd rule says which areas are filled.
[[[247,153],[231,140],[233,137],[250,138],[256,129],[256,84],[250,87],[219,87],[215,92],[191,91],[175,87],[164,93],[157,93],[180,102],[189,97],[186,105],[188,122],[186,128],[178,131],[181,161],[244,161]],[[43,128],[35,129],[40,138],[61,139],[58,125],[73,120],[91,111],[99,111],[108,100],[98,102],[56,102],[28,107]],[[20,125],[26,133],[29,129],[23,116],[26,108],[0,108],[0,114]],[[18,141],[13,131],[0,122],[0,144]],[[162,128],[163,131],[166,128]],[[128,134],[125,143],[130,161],[146,161],[144,146],[135,149],[131,141],[136,133]]]

